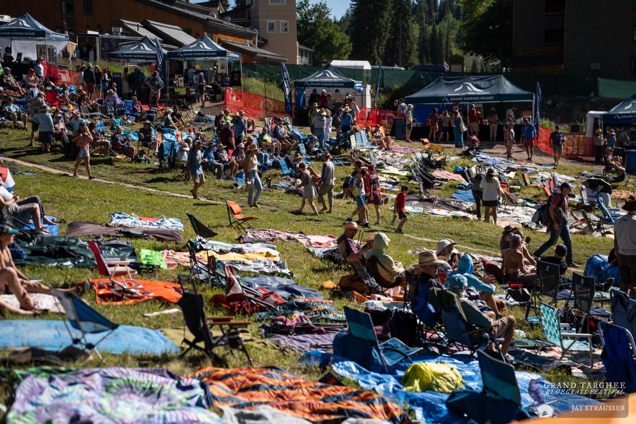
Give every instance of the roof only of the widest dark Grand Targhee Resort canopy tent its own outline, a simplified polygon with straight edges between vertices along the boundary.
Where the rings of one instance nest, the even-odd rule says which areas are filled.
[[[439,77],[422,90],[406,97],[407,103],[414,104],[533,100],[534,94],[516,87],[503,75]]]

